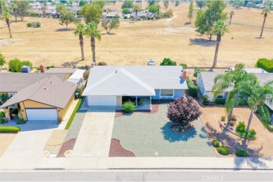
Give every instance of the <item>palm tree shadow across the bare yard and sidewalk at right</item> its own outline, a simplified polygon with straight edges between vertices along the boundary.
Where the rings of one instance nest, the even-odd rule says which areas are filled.
[[[261,158],[263,157],[263,155],[260,153],[260,151],[262,150],[262,145],[260,145],[257,148],[250,148],[248,147],[248,144],[250,142],[250,140],[248,139],[238,139],[238,137],[232,137],[230,136],[227,130],[224,130],[223,128],[223,132],[218,132],[213,126],[211,126],[209,123],[205,124],[207,132],[209,134],[209,137],[216,137],[217,139],[220,139],[221,141],[223,141],[223,143],[227,146],[230,146],[231,148],[234,148],[235,150],[238,149],[243,149],[245,151],[248,152],[248,154],[252,157],[252,158],[235,158],[235,168],[239,169],[240,167],[242,167],[244,164],[248,165],[249,167],[251,167],[252,169],[257,169],[258,167],[267,167],[265,165],[265,162],[262,160],[269,160],[272,161],[272,159],[268,159],[268,158]]]

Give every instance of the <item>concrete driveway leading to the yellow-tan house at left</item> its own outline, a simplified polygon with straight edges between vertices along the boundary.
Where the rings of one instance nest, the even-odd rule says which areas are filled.
[[[15,125],[8,123],[7,125]],[[56,121],[29,121],[21,128],[1,158],[43,158],[45,147],[52,130],[57,129]]]

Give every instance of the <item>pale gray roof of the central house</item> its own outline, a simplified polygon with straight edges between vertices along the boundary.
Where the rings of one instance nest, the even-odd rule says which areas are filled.
[[[155,89],[188,89],[181,66],[94,66],[83,95],[155,95]]]

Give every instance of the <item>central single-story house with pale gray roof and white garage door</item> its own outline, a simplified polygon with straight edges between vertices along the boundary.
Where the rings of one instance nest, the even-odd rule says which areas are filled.
[[[83,96],[88,106],[121,106],[126,97],[176,99],[188,89],[181,66],[94,66]],[[186,78],[186,72],[184,73]]]

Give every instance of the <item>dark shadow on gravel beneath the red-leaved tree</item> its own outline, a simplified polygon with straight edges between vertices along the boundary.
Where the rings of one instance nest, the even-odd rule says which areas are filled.
[[[197,136],[195,127],[192,127],[190,131],[186,133],[176,133],[172,132],[171,130],[172,125],[174,125],[174,123],[169,121],[163,127],[160,128],[162,130],[164,139],[169,141],[170,143],[175,141],[188,141],[189,139],[195,138]]]

